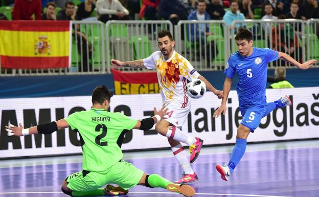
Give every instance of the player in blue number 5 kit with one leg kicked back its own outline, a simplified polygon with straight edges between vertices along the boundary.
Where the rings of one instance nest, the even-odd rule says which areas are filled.
[[[267,64],[271,61],[282,59],[300,69],[308,69],[316,63],[315,59],[299,63],[286,53],[274,51],[268,48],[253,47],[253,34],[247,29],[239,29],[236,37],[238,51],[232,54],[227,61],[224,74],[223,94],[220,107],[214,112],[213,117],[218,117],[221,113],[226,113],[226,101],[231,90],[232,79],[237,73],[239,81],[237,83],[237,95],[239,109],[243,117],[236,136],[236,144],[233,148],[230,161],[227,165],[216,165],[221,178],[228,180],[233,170],[239,163],[245,153],[246,139],[250,132],[259,126],[260,120],[267,116],[276,108],[291,105],[288,96],[285,96],[275,102],[266,102],[266,81]]]

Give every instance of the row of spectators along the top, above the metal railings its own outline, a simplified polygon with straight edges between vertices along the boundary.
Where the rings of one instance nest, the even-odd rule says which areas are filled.
[[[2,6],[13,6],[13,20],[45,19],[45,9],[65,9],[70,0],[4,0]],[[254,10],[261,9],[262,18],[276,19],[281,14],[286,18],[319,18],[316,0],[204,0],[206,12],[213,20],[229,18],[254,19]],[[198,0],[73,0],[76,18],[98,19],[104,23],[109,19],[171,20],[177,24],[186,20],[197,10]],[[232,5],[233,2],[237,4]],[[50,11],[49,11],[50,12]],[[93,12],[96,14],[94,15]],[[269,14],[271,12],[271,14]],[[42,14],[42,16],[41,16]],[[55,19],[51,13],[47,19]],[[96,18],[92,18],[92,16]],[[136,17],[139,16],[139,17]],[[226,16],[226,17],[224,17]],[[42,18],[41,18],[42,17]]]

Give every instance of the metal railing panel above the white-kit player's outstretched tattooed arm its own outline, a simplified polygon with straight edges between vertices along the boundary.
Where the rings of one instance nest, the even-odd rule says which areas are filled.
[[[143,59],[157,51],[157,32],[173,31],[169,20],[109,20],[106,23],[106,62],[111,59],[129,61]],[[145,69],[121,68],[125,71]],[[110,72],[110,67],[107,68]]]

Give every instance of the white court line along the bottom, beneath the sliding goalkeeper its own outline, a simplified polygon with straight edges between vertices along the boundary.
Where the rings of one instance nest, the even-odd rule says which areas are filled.
[[[62,193],[62,191],[35,191],[35,192],[0,192],[0,194],[19,194],[19,193]],[[156,192],[156,191],[130,191],[129,193],[153,193],[153,194],[179,194],[172,192]],[[195,193],[196,195],[233,195],[233,196],[254,196],[254,197],[292,197],[279,195],[255,195],[255,194],[230,194],[230,193]]]

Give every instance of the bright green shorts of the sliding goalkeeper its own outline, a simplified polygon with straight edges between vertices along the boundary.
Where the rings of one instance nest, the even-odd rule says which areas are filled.
[[[137,185],[143,171],[126,161],[119,161],[106,172],[89,172],[82,170],[75,172],[66,178],[67,187],[73,191],[92,191],[106,184],[117,184],[123,189],[129,189]]]

